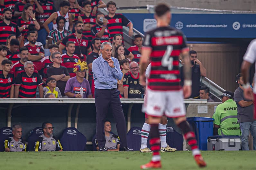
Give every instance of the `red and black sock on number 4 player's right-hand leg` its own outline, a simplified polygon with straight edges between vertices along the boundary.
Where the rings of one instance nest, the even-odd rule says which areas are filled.
[[[192,132],[187,121],[183,121],[183,122],[179,123],[178,127],[183,131],[184,137],[187,140],[188,145],[192,149],[193,156],[200,155],[200,151],[197,146],[197,140],[196,140],[195,133]]]

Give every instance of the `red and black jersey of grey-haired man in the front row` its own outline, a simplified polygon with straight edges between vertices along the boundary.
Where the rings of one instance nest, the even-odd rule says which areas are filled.
[[[35,98],[36,88],[42,84],[42,79],[37,71],[34,71],[30,77],[23,71],[15,78],[15,85],[20,85],[19,98]]]

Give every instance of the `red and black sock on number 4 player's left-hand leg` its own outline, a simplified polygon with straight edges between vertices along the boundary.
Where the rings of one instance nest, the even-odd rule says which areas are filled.
[[[158,131],[158,124],[151,124],[150,125],[150,132],[149,132],[149,138],[150,138],[150,149],[153,151],[153,156],[151,161],[154,163],[159,163],[161,160],[159,150],[160,150],[160,136]]]

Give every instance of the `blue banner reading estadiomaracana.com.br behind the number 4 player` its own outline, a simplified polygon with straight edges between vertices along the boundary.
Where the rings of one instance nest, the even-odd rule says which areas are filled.
[[[156,28],[152,13],[123,13],[145,33]],[[256,14],[172,14],[171,26],[187,38],[255,38]],[[143,23],[143,24],[141,24]]]

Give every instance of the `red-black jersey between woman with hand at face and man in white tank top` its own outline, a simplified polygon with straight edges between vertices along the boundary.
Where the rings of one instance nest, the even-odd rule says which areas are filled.
[[[56,12],[56,9],[50,1],[40,1],[40,3],[43,8],[43,13],[36,13],[36,20],[44,23],[52,13]]]

